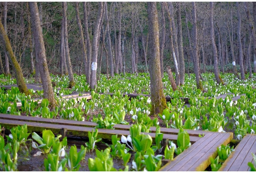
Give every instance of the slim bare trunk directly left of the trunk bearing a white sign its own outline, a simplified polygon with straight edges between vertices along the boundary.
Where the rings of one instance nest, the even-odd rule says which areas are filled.
[[[86,2],[83,2],[83,8],[84,8],[84,35],[86,39],[84,40],[86,42],[86,52],[87,52],[87,63],[84,66],[85,68],[85,74],[86,74],[86,82],[87,84],[90,84],[91,80],[91,59],[92,59],[92,44],[90,41],[90,35],[89,35],[89,28],[88,28],[88,14],[87,14],[87,8],[86,8]]]

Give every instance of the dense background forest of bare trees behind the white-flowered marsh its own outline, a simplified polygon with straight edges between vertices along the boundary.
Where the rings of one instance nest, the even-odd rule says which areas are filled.
[[[71,71],[86,74],[90,81],[92,62],[97,62],[97,74],[108,77],[114,73],[148,71],[152,36],[147,3],[103,2],[99,7],[98,2],[38,2],[37,6],[50,73]],[[2,2],[0,12],[23,75],[35,75],[40,82],[29,3]],[[211,6],[209,2],[158,2],[157,13],[161,72],[170,66],[176,75],[184,75],[184,70],[193,73],[197,58],[199,74],[213,72],[213,65],[220,72],[232,72],[235,67],[233,72],[241,73],[242,79],[244,73],[256,72],[255,3],[214,2]],[[96,36],[98,45],[94,42]],[[0,47],[0,72],[12,74],[14,68],[2,41]],[[181,81],[177,79],[176,84],[184,82],[182,77]]]

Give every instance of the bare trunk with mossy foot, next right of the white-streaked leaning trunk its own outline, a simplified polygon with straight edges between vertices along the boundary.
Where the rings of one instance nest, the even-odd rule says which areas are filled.
[[[197,89],[203,91],[203,85],[200,80],[198,54],[197,54],[197,16],[196,16],[196,3],[192,2],[192,23],[193,23],[193,57],[194,57],[194,71],[196,75]]]

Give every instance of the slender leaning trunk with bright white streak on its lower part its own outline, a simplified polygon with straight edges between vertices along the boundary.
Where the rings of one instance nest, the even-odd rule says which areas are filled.
[[[169,23],[169,33],[170,33],[170,52],[172,52],[173,54],[173,60],[174,60],[174,68],[175,68],[175,80],[176,80],[176,85],[179,86],[180,85],[180,73],[179,73],[179,65],[177,62],[177,58],[176,58],[176,53],[175,53],[175,49],[173,46],[173,30],[172,30],[172,24],[171,24],[171,15],[170,12],[168,10],[168,7],[166,5],[166,2],[163,3],[164,7],[165,7],[165,11],[167,13],[167,18],[168,18],[168,23]]]

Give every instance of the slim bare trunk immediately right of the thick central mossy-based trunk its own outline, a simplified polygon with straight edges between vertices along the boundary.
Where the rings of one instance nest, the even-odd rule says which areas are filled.
[[[161,67],[161,77],[163,78],[163,49],[165,42],[165,18],[164,18],[164,5],[163,2],[161,4],[161,36],[160,36],[160,67]]]

